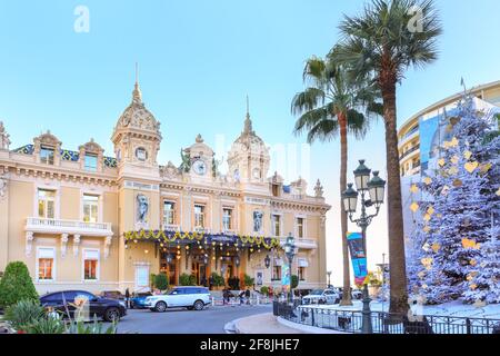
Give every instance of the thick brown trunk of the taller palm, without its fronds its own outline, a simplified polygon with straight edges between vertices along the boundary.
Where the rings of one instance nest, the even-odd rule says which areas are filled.
[[[404,229],[401,204],[401,180],[398,151],[396,80],[382,85],[386,122],[388,224],[390,268],[390,313],[407,313],[408,289],[404,257]]]

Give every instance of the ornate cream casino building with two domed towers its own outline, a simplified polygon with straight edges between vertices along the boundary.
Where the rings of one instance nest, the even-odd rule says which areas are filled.
[[[7,129],[0,123],[0,271],[24,261],[40,294],[147,290],[160,273],[170,285],[182,274],[198,284],[247,274],[256,288],[279,289],[289,233],[299,288],[327,285],[322,187],[308,195],[303,179],[269,175],[249,115],[226,176],[200,135],[180,167],[159,165],[160,123],[137,82],[112,131],[114,157],[92,139],[70,150],[50,131],[11,150]]]

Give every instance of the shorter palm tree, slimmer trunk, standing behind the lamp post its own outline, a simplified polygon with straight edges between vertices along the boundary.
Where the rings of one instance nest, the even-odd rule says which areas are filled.
[[[341,192],[347,186],[348,134],[362,138],[369,129],[369,116],[381,113],[381,105],[377,105],[377,92],[373,85],[354,82],[347,71],[337,66],[329,55],[326,60],[317,57],[306,62],[303,71],[308,88],[294,96],[291,105],[293,115],[300,115],[294,132],[308,132],[308,142],[317,139],[327,141],[340,136],[340,206]],[[363,111],[361,111],[361,109]],[[379,109],[379,110],[377,110]],[[343,255],[343,290],[341,305],[352,305],[349,273],[349,250],[347,244],[348,218],[341,210],[342,255]]]

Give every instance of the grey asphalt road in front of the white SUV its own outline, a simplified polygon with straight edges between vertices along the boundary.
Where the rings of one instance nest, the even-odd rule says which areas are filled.
[[[238,318],[271,313],[272,306],[208,306],[201,312],[168,309],[166,313],[128,310],[118,324],[119,334],[224,334],[224,325]]]

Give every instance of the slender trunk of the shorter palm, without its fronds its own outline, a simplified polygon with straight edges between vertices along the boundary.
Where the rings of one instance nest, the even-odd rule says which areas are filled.
[[[348,162],[348,140],[347,140],[347,116],[341,112],[338,116],[340,130],[340,226],[342,230],[342,257],[343,257],[343,293],[340,305],[350,306],[351,280],[349,269],[349,249],[347,243],[348,217],[343,209],[342,191],[347,188],[347,162]]]

